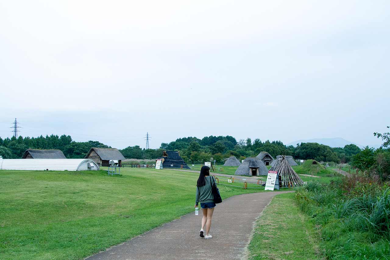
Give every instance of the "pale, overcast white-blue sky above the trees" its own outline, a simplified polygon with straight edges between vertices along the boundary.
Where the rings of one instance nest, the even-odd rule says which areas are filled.
[[[0,136],[381,142],[390,2],[0,0]]]

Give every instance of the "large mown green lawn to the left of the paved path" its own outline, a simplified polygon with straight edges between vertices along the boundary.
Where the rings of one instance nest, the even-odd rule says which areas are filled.
[[[0,259],[80,259],[193,211],[199,174],[121,173],[0,171]],[[262,191],[220,185],[222,198]]]

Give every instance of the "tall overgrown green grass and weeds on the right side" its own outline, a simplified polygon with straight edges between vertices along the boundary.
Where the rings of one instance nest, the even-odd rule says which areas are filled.
[[[328,259],[388,259],[390,189],[370,179],[344,177],[308,183],[296,201],[319,230]]]

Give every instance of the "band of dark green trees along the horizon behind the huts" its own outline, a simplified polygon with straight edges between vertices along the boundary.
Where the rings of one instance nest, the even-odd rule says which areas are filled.
[[[24,151],[31,149],[59,149],[67,158],[83,158],[92,147],[110,148],[99,141],[76,142],[70,135],[42,135],[39,137],[0,137],[0,155],[3,158],[21,158]],[[286,146],[281,141],[261,141],[247,138],[237,141],[230,135],[183,137],[169,143],[161,143],[158,149],[143,149],[140,146],[128,146],[121,151],[125,158],[155,159],[161,157],[164,150],[179,151],[186,162],[202,163],[216,160],[222,163],[224,158],[236,156],[239,159],[255,157],[261,151],[267,151],[273,157],[277,155],[292,155],[296,159],[315,159],[326,162],[349,162],[353,155],[361,149],[354,144],[343,148],[332,148],[317,143],[301,143],[296,147]]]

